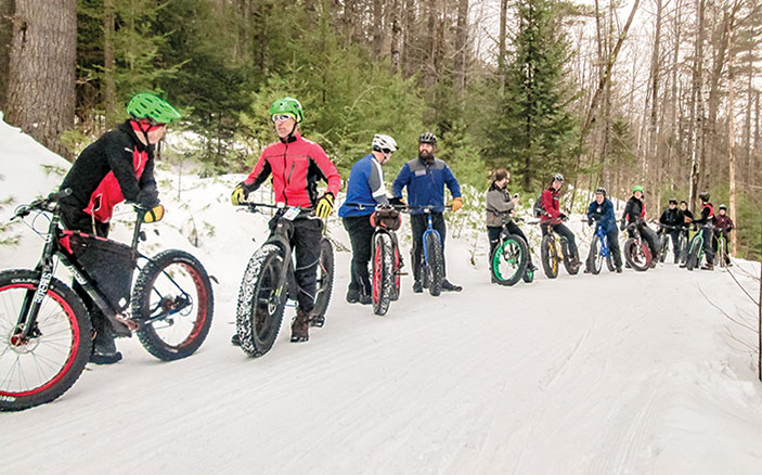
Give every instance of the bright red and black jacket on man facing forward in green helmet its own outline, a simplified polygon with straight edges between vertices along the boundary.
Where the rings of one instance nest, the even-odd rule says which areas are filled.
[[[314,206],[318,180],[327,181],[327,191],[334,196],[341,187],[341,177],[323,149],[302,139],[299,132],[294,132],[288,142],[280,141],[264,149],[244,184],[254,191],[270,175],[275,202],[288,206]]]

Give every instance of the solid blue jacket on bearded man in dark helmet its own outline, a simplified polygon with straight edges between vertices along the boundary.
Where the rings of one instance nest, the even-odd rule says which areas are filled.
[[[402,165],[402,169],[395,179],[391,193],[402,197],[402,189],[408,187],[408,204],[410,206],[434,206],[437,213],[444,211],[444,185],[448,185],[452,197],[461,196],[461,185],[448,165],[435,158],[427,165],[421,158],[414,158]],[[412,215],[419,215],[423,210],[412,209]]]

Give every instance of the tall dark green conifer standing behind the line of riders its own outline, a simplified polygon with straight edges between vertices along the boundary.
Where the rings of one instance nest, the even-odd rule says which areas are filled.
[[[573,99],[564,72],[569,47],[556,0],[521,0],[518,29],[506,67],[503,98],[487,130],[486,157],[508,166],[525,190],[569,170],[579,127],[566,108]]]

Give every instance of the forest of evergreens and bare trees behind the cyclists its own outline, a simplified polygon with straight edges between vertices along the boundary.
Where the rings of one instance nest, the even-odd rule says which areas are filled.
[[[759,0],[0,0],[0,110],[73,161],[153,91],[196,138],[162,159],[210,176],[249,169],[292,95],[345,178],[373,133],[390,179],[430,130],[459,180],[506,167],[525,203],[554,172],[569,208],[644,184],[653,218],[709,190],[757,259],[761,42]]]

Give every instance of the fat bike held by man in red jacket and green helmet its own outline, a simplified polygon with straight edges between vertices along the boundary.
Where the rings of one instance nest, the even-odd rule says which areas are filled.
[[[273,231],[257,249],[246,266],[238,291],[235,330],[241,348],[257,358],[272,348],[281,331],[283,313],[288,299],[296,300],[299,285],[296,282],[294,248],[290,238],[294,221],[318,219],[312,208],[286,207],[283,203],[247,203],[246,210],[260,213],[260,208],[276,209]],[[334,249],[323,236],[320,242],[318,279],[311,326],[323,326],[325,312],[334,287]]]

